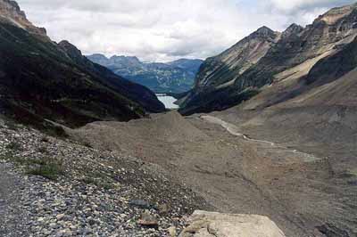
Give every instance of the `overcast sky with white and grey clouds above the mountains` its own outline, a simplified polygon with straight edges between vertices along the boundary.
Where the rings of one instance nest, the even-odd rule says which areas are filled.
[[[144,61],[206,58],[265,25],[284,30],[352,0],[17,0],[55,41]]]

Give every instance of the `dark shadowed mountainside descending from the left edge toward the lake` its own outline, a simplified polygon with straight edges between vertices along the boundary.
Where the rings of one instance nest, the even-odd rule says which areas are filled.
[[[78,127],[165,110],[144,86],[88,61],[69,42],[55,44],[26,20],[17,4],[0,3],[2,113],[37,126],[49,119]]]

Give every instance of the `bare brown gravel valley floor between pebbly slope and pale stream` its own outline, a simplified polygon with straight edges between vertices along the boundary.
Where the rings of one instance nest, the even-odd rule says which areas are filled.
[[[336,176],[328,157],[249,138],[212,116],[176,112],[129,123],[97,122],[71,135],[128,153],[177,176],[216,210],[270,217],[286,236],[353,236],[357,176]]]

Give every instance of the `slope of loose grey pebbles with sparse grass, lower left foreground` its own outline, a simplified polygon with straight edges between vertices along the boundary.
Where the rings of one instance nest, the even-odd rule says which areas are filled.
[[[175,236],[210,208],[159,167],[26,127],[0,126],[0,160],[1,236]]]

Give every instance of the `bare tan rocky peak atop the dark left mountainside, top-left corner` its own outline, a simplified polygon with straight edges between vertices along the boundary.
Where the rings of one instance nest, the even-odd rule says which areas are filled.
[[[32,34],[46,37],[46,29],[35,27],[21,11],[19,4],[11,0],[0,0],[0,20],[5,20],[13,25],[25,29]]]

